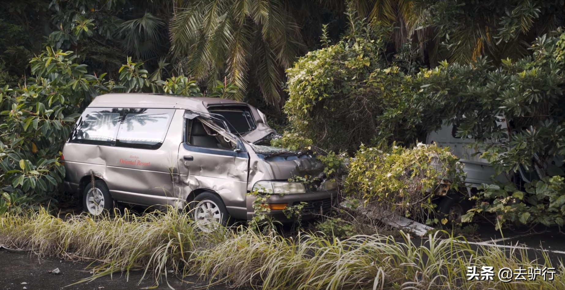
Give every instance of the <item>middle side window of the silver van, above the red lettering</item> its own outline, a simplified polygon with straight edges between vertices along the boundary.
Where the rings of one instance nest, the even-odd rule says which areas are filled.
[[[167,135],[174,112],[173,109],[124,109],[116,146],[158,149]]]

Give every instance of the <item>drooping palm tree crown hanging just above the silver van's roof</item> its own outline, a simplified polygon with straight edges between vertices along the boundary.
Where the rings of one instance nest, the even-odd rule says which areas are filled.
[[[299,1],[298,1],[299,2]],[[280,101],[283,72],[303,47],[293,1],[197,0],[171,20],[173,55],[187,74],[214,86],[224,78],[242,92],[255,77],[267,102]],[[242,99],[242,93],[238,94]]]

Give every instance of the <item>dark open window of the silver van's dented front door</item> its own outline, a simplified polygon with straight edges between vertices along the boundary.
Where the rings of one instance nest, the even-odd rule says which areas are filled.
[[[192,146],[233,150],[232,142],[226,140],[214,129],[202,124],[198,119],[189,120],[187,128],[188,144]]]

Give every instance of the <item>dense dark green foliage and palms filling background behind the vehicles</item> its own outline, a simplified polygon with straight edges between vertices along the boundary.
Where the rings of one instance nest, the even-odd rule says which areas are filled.
[[[411,147],[442,122],[456,124],[497,172],[544,168],[542,181],[485,186],[467,219],[489,212],[562,225],[564,5],[5,1],[0,210],[56,206],[59,151],[94,96],[158,91],[245,100],[284,132],[280,145],[329,153],[330,168],[332,152]],[[497,125],[502,116],[510,131]]]

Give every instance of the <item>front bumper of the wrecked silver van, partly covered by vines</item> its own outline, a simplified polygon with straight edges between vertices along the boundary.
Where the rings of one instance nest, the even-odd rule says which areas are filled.
[[[325,214],[331,210],[332,207],[338,204],[338,192],[337,190],[330,191],[311,191],[305,192],[303,194],[285,194],[285,195],[272,195],[268,199],[270,204],[288,204],[289,206],[298,205],[301,202],[305,202],[306,205],[302,208],[302,219],[314,218],[318,214]],[[247,196],[247,220],[250,221],[255,215],[253,209],[253,201],[255,197]],[[289,219],[283,213],[283,210],[271,210],[271,212],[265,213],[268,217],[275,218],[277,221],[290,222]]]

